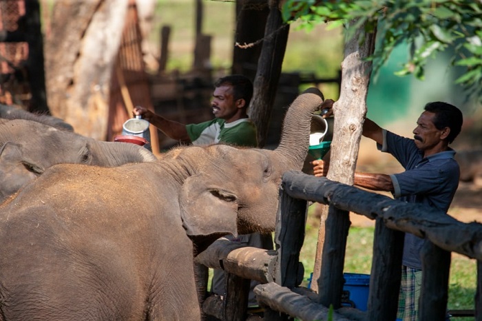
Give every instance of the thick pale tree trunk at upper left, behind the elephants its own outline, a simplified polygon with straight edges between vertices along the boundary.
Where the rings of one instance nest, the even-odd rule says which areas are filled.
[[[76,132],[105,139],[110,77],[128,0],[57,0],[45,43],[50,112]]]

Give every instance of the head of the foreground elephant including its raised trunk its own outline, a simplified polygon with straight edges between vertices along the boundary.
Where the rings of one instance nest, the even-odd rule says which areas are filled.
[[[274,231],[282,174],[302,169],[312,112],[322,102],[316,88],[298,96],[286,112],[280,145],[274,150],[211,145],[181,148],[166,156],[191,165],[179,196],[187,234],[207,240],[220,233]]]

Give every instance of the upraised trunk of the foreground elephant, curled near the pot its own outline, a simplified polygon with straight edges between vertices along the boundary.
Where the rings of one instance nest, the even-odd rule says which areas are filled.
[[[323,103],[324,96],[317,88],[305,90],[291,103],[284,116],[280,145],[275,153],[286,161],[286,170],[301,170],[308,153],[311,114]]]

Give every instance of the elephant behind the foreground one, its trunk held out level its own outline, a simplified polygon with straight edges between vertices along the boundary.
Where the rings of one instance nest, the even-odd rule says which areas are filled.
[[[149,161],[156,156],[131,143],[96,141],[39,121],[0,119],[0,202],[55,164],[112,167]]]

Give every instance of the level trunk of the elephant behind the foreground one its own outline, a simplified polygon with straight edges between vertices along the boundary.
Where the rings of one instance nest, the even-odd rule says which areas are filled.
[[[92,165],[114,167],[126,163],[158,161],[147,149],[132,143],[93,141],[89,145],[94,155]]]

